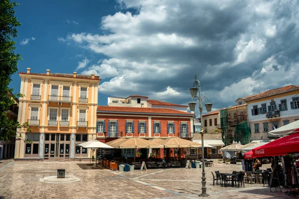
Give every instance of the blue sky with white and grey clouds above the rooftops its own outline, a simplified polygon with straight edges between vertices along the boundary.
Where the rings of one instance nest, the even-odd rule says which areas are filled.
[[[299,85],[298,0],[19,3],[18,71],[95,73],[99,105],[130,95],[187,105],[195,74],[212,110]],[[19,92],[18,74],[10,87]]]

